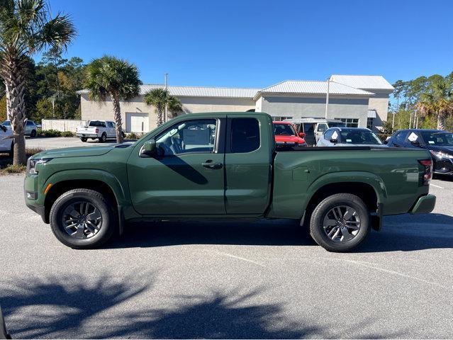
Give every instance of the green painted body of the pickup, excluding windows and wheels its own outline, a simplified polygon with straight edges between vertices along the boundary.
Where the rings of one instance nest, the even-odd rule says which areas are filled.
[[[222,139],[217,142],[221,147],[216,152],[162,159],[140,157],[143,144],[172,125],[211,118],[218,124],[217,138]],[[259,122],[257,149],[246,153],[228,149],[234,118]],[[38,164],[38,174],[27,174],[24,184],[26,192],[36,194],[35,199],[26,197],[27,205],[35,211],[46,211],[43,214],[50,210],[43,208],[46,196],[71,183],[84,188],[91,183],[108,186],[125,220],[301,218],[313,198],[335,186],[366,186],[367,193],[374,193],[376,203],[381,203],[382,215],[428,212],[435,200],[427,196],[425,168],[418,163],[418,159],[430,159],[426,150],[336,147],[279,152],[272,118],[265,113],[181,115],[132,145],[55,149],[33,156],[47,158],[52,160]],[[223,167],[207,169],[201,165],[206,161]],[[45,194],[49,184],[52,186]]]

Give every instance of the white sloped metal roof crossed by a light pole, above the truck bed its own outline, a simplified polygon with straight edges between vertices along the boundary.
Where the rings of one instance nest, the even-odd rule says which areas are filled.
[[[311,80],[286,80],[281,83],[259,90],[258,93],[274,93],[274,94],[327,94],[327,81],[311,81]],[[357,95],[357,96],[373,96],[374,94],[368,91],[354,89],[353,87],[339,84],[330,81],[329,94],[342,95]]]

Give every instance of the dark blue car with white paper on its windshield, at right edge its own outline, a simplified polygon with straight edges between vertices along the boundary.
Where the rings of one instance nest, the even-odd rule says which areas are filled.
[[[389,147],[427,149],[434,162],[435,174],[453,175],[453,133],[443,130],[408,129],[395,132]]]

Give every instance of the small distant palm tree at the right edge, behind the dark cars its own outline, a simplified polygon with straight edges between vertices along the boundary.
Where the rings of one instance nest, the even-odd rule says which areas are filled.
[[[437,118],[437,129],[444,130],[445,118],[453,114],[452,85],[447,79],[435,79],[428,91],[421,95],[417,104],[423,116],[433,115]]]

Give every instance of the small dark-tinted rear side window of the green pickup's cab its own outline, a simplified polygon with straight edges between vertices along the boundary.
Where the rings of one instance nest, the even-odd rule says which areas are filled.
[[[252,152],[259,148],[259,123],[255,118],[231,120],[231,152]]]

